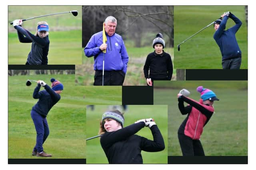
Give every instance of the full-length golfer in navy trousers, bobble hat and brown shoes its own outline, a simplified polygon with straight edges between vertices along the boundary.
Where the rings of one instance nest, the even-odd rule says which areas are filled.
[[[44,152],[43,143],[49,135],[49,127],[46,116],[52,106],[60,100],[60,94],[63,90],[63,85],[54,78],[51,79],[52,88],[44,81],[38,80],[38,84],[34,90],[33,98],[39,99],[32,107],[31,117],[36,128],[36,146],[32,151],[33,156],[51,157],[51,154]],[[39,92],[41,85],[45,90]]]

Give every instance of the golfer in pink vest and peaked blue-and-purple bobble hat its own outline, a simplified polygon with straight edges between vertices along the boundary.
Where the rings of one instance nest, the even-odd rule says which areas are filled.
[[[201,94],[199,102],[180,93],[177,95],[181,114],[188,114],[178,129],[178,139],[183,156],[205,156],[200,137],[203,127],[214,113],[214,100],[219,100],[212,90],[203,88],[203,86],[199,86],[196,90]],[[184,107],[184,102],[189,105]]]

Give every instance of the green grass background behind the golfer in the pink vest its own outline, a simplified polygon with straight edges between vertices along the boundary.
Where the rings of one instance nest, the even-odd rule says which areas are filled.
[[[182,115],[178,109],[177,94],[182,88],[186,88],[191,93],[189,98],[199,101],[200,94],[196,91],[198,86],[213,90],[220,99],[214,102],[215,112],[204,127],[200,139],[206,156],[248,155],[247,81],[162,81],[159,83],[155,82],[154,86],[154,104],[168,104],[169,156],[182,156],[177,132],[187,115]]]

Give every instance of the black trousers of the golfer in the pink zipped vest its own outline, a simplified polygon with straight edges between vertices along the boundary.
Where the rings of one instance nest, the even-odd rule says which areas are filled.
[[[183,156],[205,156],[200,140],[193,140],[181,133],[178,133],[178,138]]]

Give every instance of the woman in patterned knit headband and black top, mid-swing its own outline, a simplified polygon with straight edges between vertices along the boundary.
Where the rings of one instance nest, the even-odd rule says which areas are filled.
[[[100,144],[110,164],[142,164],[141,150],[158,152],[164,150],[164,139],[156,123],[152,119],[141,119],[127,127],[124,116],[118,110],[107,111],[100,122]],[[134,135],[148,126],[154,141]]]

